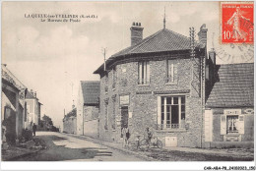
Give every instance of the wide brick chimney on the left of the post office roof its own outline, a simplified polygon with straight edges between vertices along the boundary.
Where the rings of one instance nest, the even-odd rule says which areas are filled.
[[[131,29],[131,45],[139,43],[143,39],[143,28],[141,23],[133,23]]]

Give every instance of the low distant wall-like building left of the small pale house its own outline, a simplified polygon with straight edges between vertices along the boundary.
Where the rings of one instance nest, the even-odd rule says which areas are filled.
[[[77,108],[75,108],[75,106],[73,106],[73,109],[63,118],[63,133],[77,133]]]

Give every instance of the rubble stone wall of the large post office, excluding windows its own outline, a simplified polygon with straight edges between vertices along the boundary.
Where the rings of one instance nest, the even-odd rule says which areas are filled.
[[[172,59],[176,64],[177,82],[172,85],[165,84],[166,60],[150,61],[150,84],[138,85],[138,62],[127,62],[116,66],[117,78],[115,88],[112,88],[113,70],[100,79],[100,115],[99,115],[99,137],[106,141],[121,142],[121,106],[120,95],[128,94],[130,103],[128,105],[129,128],[131,141],[136,135],[143,135],[145,129],[150,127],[154,136],[159,137],[163,144],[165,137],[177,137],[179,146],[200,146],[202,132],[202,106],[201,98],[197,91],[199,81],[194,80],[197,91],[191,87],[192,63],[191,59]],[[198,62],[198,61],[197,61]],[[194,67],[197,67],[194,65]],[[195,68],[195,73],[199,75],[199,68]],[[107,86],[107,88],[105,87]],[[107,90],[107,91],[106,91]],[[172,92],[170,92],[172,90]],[[185,95],[186,104],[186,125],[187,130],[167,130],[157,129],[158,115],[158,96],[166,95]],[[113,100],[114,99],[114,100]],[[113,104],[114,103],[114,104]],[[107,116],[105,107],[107,106]],[[114,106],[114,110],[113,110]],[[115,120],[113,119],[115,111]],[[105,118],[108,118],[105,127]],[[115,129],[111,126],[115,125]]]

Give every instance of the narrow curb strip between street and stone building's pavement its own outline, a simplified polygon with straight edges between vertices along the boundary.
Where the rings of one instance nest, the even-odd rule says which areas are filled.
[[[63,133],[61,133],[61,134],[63,134]],[[147,160],[147,161],[159,161],[159,160],[154,159],[152,157],[148,157],[146,155],[142,155],[140,153],[137,153],[137,152],[134,152],[134,151],[130,151],[128,149],[119,148],[119,147],[115,147],[115,146],[112,146],[112,145],[109,145],[109,144],[105,144],[104,142],[101,142],[100,140],[97,140],[97,139],[94,139],[94,138],[91,138],[91,137],[72,135],[72,134],[63,134],[63,135],[68,135],[68,136],[71,136],[71,137],[74,137],[74,138],[84,138],[84,139],[86,139],[86,141],[96,142],[98,144],[110,147],[112,149],[115,149],[115,150],[118,150],[118,151],[121,151],[121,152],[125,152],[125,153],[128,153],[128,154],[136,155],[137,157],[139,157],[141,159],[144,159],[144,160]]]

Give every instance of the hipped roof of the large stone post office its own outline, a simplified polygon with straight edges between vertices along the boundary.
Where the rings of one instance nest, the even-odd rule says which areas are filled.
[[[199,44],[198,42],[196,42],[195,45],[196,47],[202,47],[202,44]],[[106,64],[108,64],[109,61],[117,57],[125,55],[168,52],[188,49],[190,49],[189,37],[177,33],[173,30],[163,28],[157,31],[156,33],[144,38],[141,42],[113,54],[106,61]],[[94,74],[98,74],[99,70],[102,69],[103,65],[101,65],[94,72]]]

